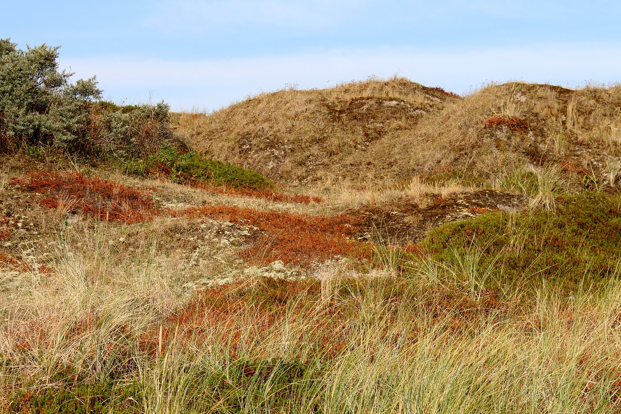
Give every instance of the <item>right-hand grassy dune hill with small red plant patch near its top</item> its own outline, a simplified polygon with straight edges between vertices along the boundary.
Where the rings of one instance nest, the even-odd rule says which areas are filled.
[[[554,166],[609,182],[621,155],[621,87],[487,86],[422,119],[404,142],[410,167],[427,173],[493,182]]]

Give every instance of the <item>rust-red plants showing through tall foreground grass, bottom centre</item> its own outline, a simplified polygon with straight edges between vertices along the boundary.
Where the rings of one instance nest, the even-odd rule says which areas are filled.
[[[322,311],[325,318],[317,317],[320,298],[320,283],[316,280],[263,278],[252,286],[238,281],[209,288],[168,318],[161,334],[159,329],[140,334],[140,348],[155,356],[165,352],[175,336],[204,338],[209,346],[237,359],[237,350],[256,349],[258,344],[269,341],[274,329],[287,319],[292,325],[306,326],[299,341],[311,341],[324,357],[334,357],[345,351],[347,313],[342,307],[326,306]],[[255,356],[265,357],[267,353]]]

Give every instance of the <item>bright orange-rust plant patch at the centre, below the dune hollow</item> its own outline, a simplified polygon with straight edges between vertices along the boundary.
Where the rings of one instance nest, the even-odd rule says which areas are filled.
[[[274,260],[308,265],[361,249],[360,243],[348,239],[354,232],[355,219],[346,216],[304,216],[223,205],[189,207],[171,214],[225,220],[260,229],[263,235],[241,253],[257,265]]]

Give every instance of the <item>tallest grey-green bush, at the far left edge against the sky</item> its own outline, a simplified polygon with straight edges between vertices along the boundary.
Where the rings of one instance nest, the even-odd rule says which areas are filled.
[[[70,82],[58,47],[19,50],[0,39],[0,150],[54,145],[70,151],[88,135],[89,103],[101,98],[95,77]]]

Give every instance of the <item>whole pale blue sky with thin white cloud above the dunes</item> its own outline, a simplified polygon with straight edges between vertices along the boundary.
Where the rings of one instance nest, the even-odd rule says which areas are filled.
[[[621,81],[619,1],[0,0],[0,39],[60,46],[72,80],[117,104],[211,112],[263,92],[404,76],[489,83]]]

